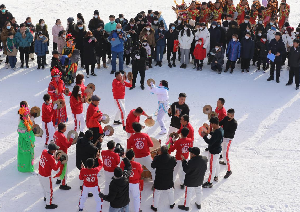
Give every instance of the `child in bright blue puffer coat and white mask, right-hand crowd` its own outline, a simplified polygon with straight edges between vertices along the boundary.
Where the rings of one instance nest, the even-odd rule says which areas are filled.
[[[226,73],[231,65],[230,74],[233,73],[235,62],[241,57],[241,43],[238,41],[238,35],[233,34],[226,49],[227,63],[224,72]]]

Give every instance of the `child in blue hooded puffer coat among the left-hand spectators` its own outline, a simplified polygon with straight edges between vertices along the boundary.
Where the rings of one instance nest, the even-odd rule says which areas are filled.
[[[46,54],[48,53],[48,38],[44,36],[42,31],[38,32],[38,37],[35,42],[35,55],[38,56],[38,69],[45,69]]]

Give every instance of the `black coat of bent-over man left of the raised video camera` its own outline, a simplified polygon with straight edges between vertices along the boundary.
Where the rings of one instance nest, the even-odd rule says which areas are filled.
[[[80,170],[81,161],[86,167],[85,161],[88,158],[95,158],[98,152],[98,147],[94,146],[91,140],[88,140],[85,137],[78,138],[76,143],[76,167]],[[98,160],[95,160],[95,166],[99,165]]]

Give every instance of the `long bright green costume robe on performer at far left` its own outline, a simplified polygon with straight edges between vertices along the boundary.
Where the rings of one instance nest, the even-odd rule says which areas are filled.
[[[30,124],[29,124],[30,125]],[[35,170],[35,135],[33,131],[28,131],[24,121],[18,125],[18,170],[20,172],[33,172]]]

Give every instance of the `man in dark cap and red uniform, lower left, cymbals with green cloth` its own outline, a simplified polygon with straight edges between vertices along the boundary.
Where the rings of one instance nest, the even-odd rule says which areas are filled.
[[[53,188],[52,188],[52,169],[56,171],[61,161],[65,160],[65,156],[59,158],[58,163],[55,163],[53,154],[59,149],[55,143],[49,143],[48,150],[44,149],[41,154],[40,163],[38,166],[38,178],[44,193],[44,201],[46,201],[46,209],[57,208],[57,205],[52,204]]]

